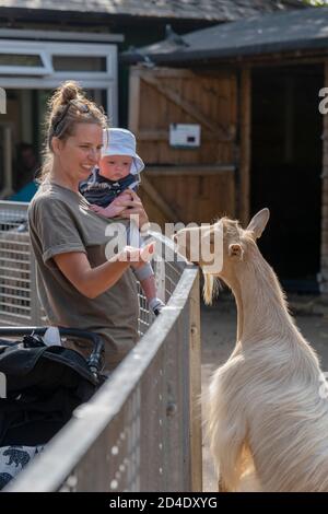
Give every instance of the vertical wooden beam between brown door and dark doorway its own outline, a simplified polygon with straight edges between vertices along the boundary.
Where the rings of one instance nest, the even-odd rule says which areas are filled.
[[[250,124],[251,124],[251,79],[250,69],[243,68],[241,74],[239,122],[241,122],[241,160],[239,160],[239,208],[238,217],[247,226],[250,210]]]

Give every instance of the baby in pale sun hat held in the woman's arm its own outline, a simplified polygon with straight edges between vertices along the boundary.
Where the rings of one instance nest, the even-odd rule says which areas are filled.
[[[80,184],[80,192],[92,203],[91,209],[106,218],[120,214],[125,207],[119,200],[131,199],[128,189],[137,190],[143,161],[136,153],[136,138],[132,132],[121,128],[104,130],[104,147],[99,167],[95,167],[87,180]],[[119,200],[118,200],[119,199]],[[128,236],[131,234],[128,234]],[[140,246],[144,245],[138,232]],[[130,242],[128,241],[128,244]],[[133,245],[134,246],[134,245]],[[157,316],[164,303],[156,296],[154,272],[149,262],[133,269],[147,296],[151,311]]]

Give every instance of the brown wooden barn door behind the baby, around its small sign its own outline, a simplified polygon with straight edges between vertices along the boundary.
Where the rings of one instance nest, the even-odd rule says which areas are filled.
[[[147,163],[141,196],[152,221],[235,215],[236,78],[231,71],[130,71],[129,128]],[[169,124],[200,124],[199,149],[169,147]]]

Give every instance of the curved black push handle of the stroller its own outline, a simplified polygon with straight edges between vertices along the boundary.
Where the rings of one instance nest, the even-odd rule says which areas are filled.
[[[0,336],[20,337],[27,336],[31,332],[34,332],[37,336],[44,336],[48,328],[49,327],[0,327]],[[104,349],[104,341],[102,340],[101,336],[87,330],[81,330],[80,328],[58,327],[58,330],[60,336],[74,336],[81,339],[86,339],[93,343],[93,350],[90,358],[87,359],[87,365],[95,378],[98,379],[102,351]]]

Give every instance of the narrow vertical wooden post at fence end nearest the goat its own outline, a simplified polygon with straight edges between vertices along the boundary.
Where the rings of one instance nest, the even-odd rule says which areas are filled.
[[[190,401],[190,465],[191,490],[202,491],[202,431],[201,431],[201,346],[199,312],[199,273],[189,296],[189,401]]]

